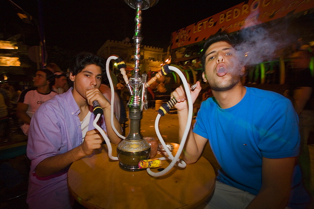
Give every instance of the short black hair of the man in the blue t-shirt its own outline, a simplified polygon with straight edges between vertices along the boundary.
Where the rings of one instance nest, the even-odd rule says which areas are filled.
[[[203,46],[203,55],[202,55],[202,66],[203,66],[203,72],[205,70],[205,59],[206,59],[206,51],[207,49],[213,44],[213,43],[217,43],[220,41],[225,41],[230,43],[231,46],[234,47],[234,45],[236,44],[235,40],[233,38],[231,38],[227,33],[225,32],[217,32],[214,35],[209,36],[209,38],[207,39],[207,41],[204,43]]]

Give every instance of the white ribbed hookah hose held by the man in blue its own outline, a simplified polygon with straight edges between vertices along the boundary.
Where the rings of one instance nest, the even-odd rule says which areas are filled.
[[[151,171],[149,168],[147,168],[147,172],[149,175],[151,176],[154,176],[154,177],[159,177],[159,176],[163,176],[165,175],[166,173],[168,173],[172,168],[173,166],[177,163],[177,161],[179,160],[179,157],[181,155],[181,152],[183,150],[183,147],[185,145],[185,141],[187,139],[187,135],[189,133],[189,130],[190,130],[190,127],[191,127],[191,122],[192,122],[192,114],[193,114],[193,102],[192,102],[192,97],[191,97],[191,92],[190,92],[190,88],[189,88],[189,85],[187,84],[187,80],[186,78],[184,77],[183,73],[181,72],[181,70],[177,69],[176,67],[173,67],[173,66],[169,66],[169,69],[170,70],[173,70],[175,71],[181,78],[182,82],[183,82],[183,86],[184,86],[184,89],[185,89],[185,92],[187,94],[187,104],[188,104],[188,116],[187,116],[187,125],[185,127],[185,130],[184,130],[184,133],[183,133],[183,136],[182,136],[182,139],[181,139],[181,143],[180,143],[180,146],[179,146],[179,149],[175,155],[175,157],[173,157],[173,155],[171,154],[170,150],[167,148],[167,146],[165,145],[165,142],[164,140],[162,139],[161,135],[160,135],[160,132],[159,132],[159,129],[158,129],[158,122],[159,122],[159,119],[160,119],[160,114],[157,115],[156,117],[156,120],[155,120],[155,130],[156,130],[156,134],[158,136],[158,139],[160,140],[161,144],[163,145],[163,148],[166,150],[169,158],[172,160],[170,165],[167,166],[163,171],[160,171],[160,172],[153,172]],[[165,160],[166,158],[160,158],[160,160]],[[184,165],[184,166],[183,166]],[[179,166],[183,166],[185,167],[186,163],[184,161],[181,161],[181,165],[179,163]]]

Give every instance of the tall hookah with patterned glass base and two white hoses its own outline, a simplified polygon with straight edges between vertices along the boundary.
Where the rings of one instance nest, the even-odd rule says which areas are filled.
[[[185,131],[183,133],[180,146],[176,152],[176,155],[173,156],[171,151],[168,149],[167,145],[165,144],[164,140],[162,139],[162,136],[159,132],[158,124],[160,117],[165,115],[167,112],[170,111],[171,107],[174,106],[177,101],[175,98],[172,98],[169,100],[166,104],[163,104],[160,109],[158,110],[158,115],[155,120],[155,131],[158,136],[158,139],[160,140],[161,145],[163,146],[164,150],[166,151],[168,157],[161,157],[159,160],[171,160],[171,163],[169,166],[167,166],[164,170],[160,172],[153,172],[150,170],[150,168],[147,168],[147,172],[149,175],[154,177],[159,177],[165,175],[167,172],[169,172],[173,166],[177,164],[177,166],[184,168],[186,166],[186,163],[179,159],[181,152],[183,150],[183,147],[185,145],[185,141],[187,139],[188,132],[190,130],[191,122],[192,122],[192,110],[193,110],[193,103],[191,98],[191,92],[190,87],[187,84],[187,80],[185,79],[183,73],[173,66],[164,65],[161,67],[161,70],[155,75],[154,78],[150,79],[148,82],[146,82],[147,75],[142,74],[142,78],[138,75],[139,71],[139,60],[140,60],[140,43],[142,40],[141,37],[141,10],[147,9],[149,7],[154,6],[156,3],[158,3],[159,0],[124,0],[125,3],[127,3],[131,8],[136,9],[136,27],[135,27],[135,34],[134,34],[134,43],[135,43],[135,51],[134,51],[134,74],[130,79],[127,78],[125,68],[126,65],[122,58],[111,56],[106,61],[106,73],[109,79],[110,87],[111,87],[111,126],[113,130],[115,131],[116,135],[118,135],[123,140],[119,143],[117,146],[117,157],[112,156],[112,147],[110,144],[110,140],[108,139],[106,133],[104,130],[102,130],[98,125],[97,121],[99,120],[100,116],[103,114],[102,109],[99,106],[97,101],[94,101],[94,114],[96,115],[96,118],[94,120],[94,127],[100,132],[100,134],[103,136],[107,147],[108,147],[108,155],[111,160],[119,161],[119,166],[122,170],[125,171],[142,171],[146,168],[140,168],[139,167],[139,161],[147,160],[149,159],[150,154],[150,145],[149,143],[143,139],[143,136],[140,134],[140,120],[142,119],[142,111],[143,109],[147,110],[147,87],[149,87],[156,79],[160,78],[161,76],[164,76],[172,71],[175,71],[181,78],[183,82],[183,86],[186,91],[187,95],[187,102],[188,102],[188,119],[187,119],[187,125],[185,127]],[[127,103],[127,107],[129,108],[129,133],[127,137],[124,137],[118,133],[118,131],[115,129],[115,126],[113,124],[113,101],[114,101],[114,88],[113,83],[110,77],[109,72],[109,63],[111,60],[114,59],[117,63],[118,69],[120,69],[121,74],[123,75],[123,79],[126,82],[126,87],[130,92],[130,99]],[[194,89],[196,85],[193,85],[191,89]]]

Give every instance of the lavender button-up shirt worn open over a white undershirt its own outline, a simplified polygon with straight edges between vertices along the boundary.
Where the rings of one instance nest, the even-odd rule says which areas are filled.
[[[68,168],[51,176],[39,177],[35,168],[47,157],[65,153],[83,143],[80,110],[72,88],[43,103],[30,123],[27,156],[31,160],[27,203],[30,208],[70,208],[67,186]],[[91,110],[92,111],[92,108]],[[88,130],[93,130],[91,114]],[[98,122],[106,131],[104,117]]]

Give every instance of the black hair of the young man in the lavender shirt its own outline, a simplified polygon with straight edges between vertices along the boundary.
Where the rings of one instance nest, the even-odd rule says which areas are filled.
[[[70,61],[69,72],[72,73],[72,75],[77,75],[90,64],[99,66],[102,76],[106,74],[105,60],[88,52],[79,53]]]

